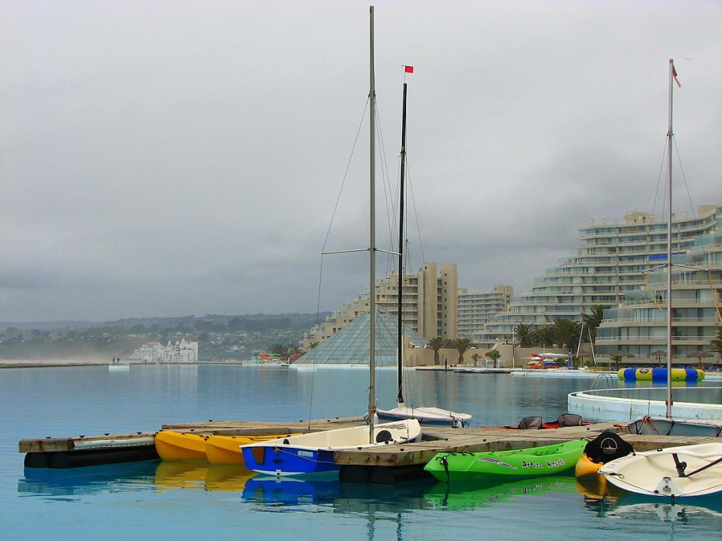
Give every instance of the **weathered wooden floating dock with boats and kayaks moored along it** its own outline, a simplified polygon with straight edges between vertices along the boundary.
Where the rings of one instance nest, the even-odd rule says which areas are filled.
[[[261,436],[292,432],[316,432],[360,426],[360,417],[318,419],[291,423],[254,421],[206,421],[169,423],[162,429],[193,432],[203,436]],[[424,477],[424,465],[438,452],[506,451],[557,444],[572,439],[594,439],[602,431],[622,433],[620,423],[548,428],[544,430],[500,430],[495,428],[424,428],[422,441],[382,448],[347,449],[334,453],[341,466],[341,480],[349,482],[396,483]],[[690,436],[648,436],[624,434],[638,451],[661,449],[705,441],[722,443],[722,438]],[[103,434],[64,438],[23,439],[19,452],[26,453],[26,467],[78,467],[157,459],[155,433]]]

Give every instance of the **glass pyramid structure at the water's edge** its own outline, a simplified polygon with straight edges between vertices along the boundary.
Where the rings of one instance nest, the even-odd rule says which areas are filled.
[[[370,312],[364,312],[338,333],[323,340],[294,364],[365,364],[369,356]],[[396,366],[396,315],[376,308],[376,366]],[[410,327],[404,334],[412,345],[422,348],[428,340]]]

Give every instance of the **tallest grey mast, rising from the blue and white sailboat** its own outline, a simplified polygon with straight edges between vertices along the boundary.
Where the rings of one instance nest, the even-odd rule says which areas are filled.
[[[376,144],[376,82],[373,70],[373,6],[369,8],[370,15],[370,88],[369,88],[369,115],[370,115],[370,234],[369,234],[369,385],[368,385],[368,419],[369,443],[373,444],[373,425],[376,415],[376,157],[374,147]]]

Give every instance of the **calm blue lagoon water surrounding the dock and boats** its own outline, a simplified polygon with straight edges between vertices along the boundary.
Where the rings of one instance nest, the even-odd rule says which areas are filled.
[[[377,374],[391,407],[395,374]],[[417,405],[474,415],[474,426],[555,419],[586,379],[415,373]],[[310,400],[313,388],[313,401]],[[655,505],[571,476],[447,490],[434,481],[357,485],[252,478],[235,467],[136,462],[25,469],[17,441],[153,431],[174,421],[297,421],[360,415],[363,370],[105,366],[0,370],[0,539],[643,540],[722,539],[722,498]],[[604,530],[604,531],[600,531]]]

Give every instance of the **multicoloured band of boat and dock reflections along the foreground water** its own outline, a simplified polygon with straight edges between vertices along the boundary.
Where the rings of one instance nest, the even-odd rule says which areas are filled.
[[[722,496],[655,500],[627,493],[604,478],[575,479],[571,475],[527,478],[505,483],[461,483],[449,487],[435,480],[393,485],[340,483],[331,475],[314,480],[257,476],[238,465],[205,462],[134,462],[69,470],[26,468],[18,480],[20,496],[48,501],[80,501],[98,493],[167,493],[178,489],[226,491],[238,511],[342,515],[360,520],[368,540],[387,539],[390,529],[397,541],[408,538],[412,515],[429,511],[467,511],[496,507],[503,514],[518,509],[547,509],[553,494],[569,495],[567,513],[588,527],[590,521],[612,521],[625,529],[666,530],[669,537],[696,532],[722,531]],[[137,498],[137,496],[132,496]],[[227,496],[223,496],[228,498]],[[224,501],[227,501],[225,499]],[[511,505],[508,505],[511,503]],[[590,518],[585,519],[584,516]],[[321,519],[323,520],[328,519]],[[625,522],[621,522],[621,521]]]

